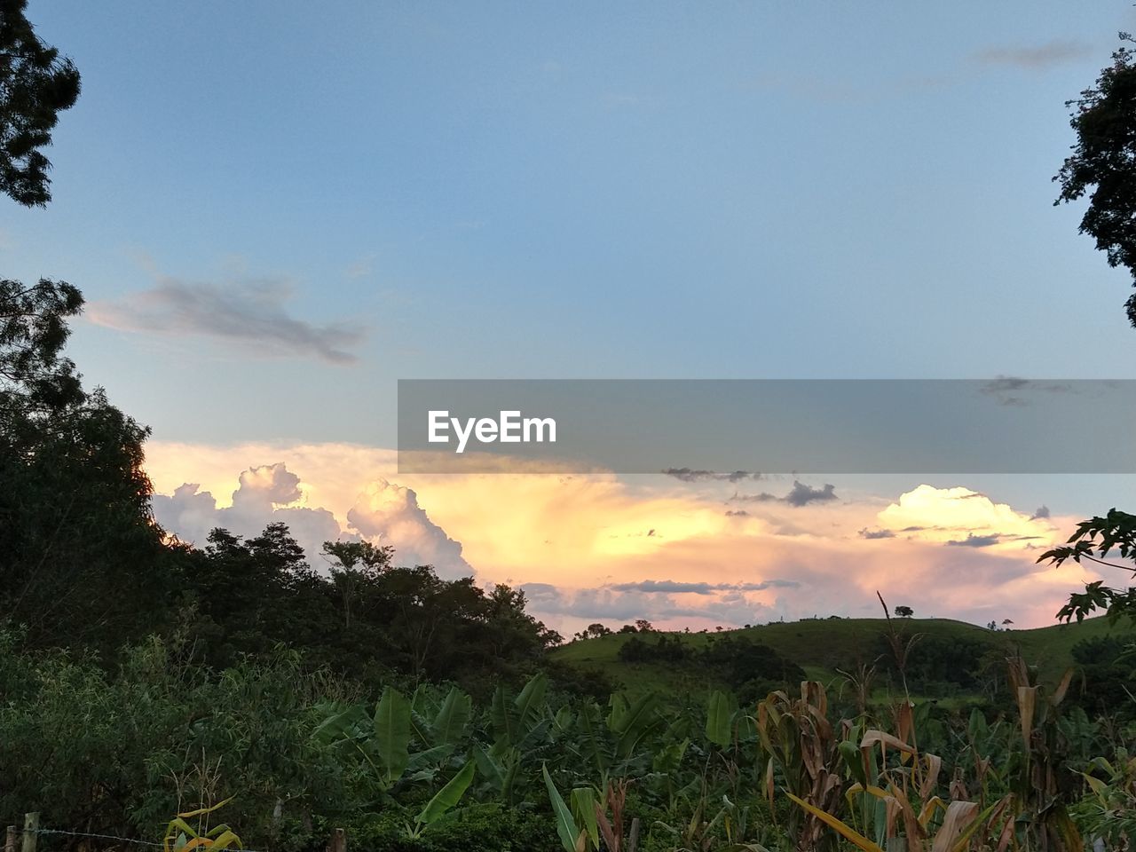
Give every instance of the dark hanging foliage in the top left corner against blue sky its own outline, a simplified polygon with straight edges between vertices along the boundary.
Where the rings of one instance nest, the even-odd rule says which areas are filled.
[[[80,74],[40,41],[27,0],[0,0],[0,190],[27,207],[51,200],[51,144],[58,114],[75,106]]]

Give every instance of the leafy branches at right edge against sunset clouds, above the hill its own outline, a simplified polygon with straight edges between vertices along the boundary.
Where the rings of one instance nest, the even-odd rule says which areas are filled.
[[[1133,565],[1110,561],[1108,557],[1113,551]],[[1083,520],[1064,546],[1045,551],[1037,561],[1049,562],[1058,568],[1067,559],[1078,565],[1081,559],[1086,559],[1136,575],[1136,515],[1110,509],[1103,517]],[[1069,595],[1069,602],[1058,611],[1056,617],[1064,621],[1076,617],[1080,621],[1099,609],[1105,610],[1113,621],[1122,616],[1136,621],[1136,586],[1116,588],[1104,585],[1101,579],[1088,583],[1084,592]]]

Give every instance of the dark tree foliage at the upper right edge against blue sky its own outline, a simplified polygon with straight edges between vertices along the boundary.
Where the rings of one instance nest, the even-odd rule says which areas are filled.
[[[1133,42],[1128,33],[1124,41]],[[1096,240],[1110,266],[1124,266],[1136,286],[1136,51],[1122,47],[1096,85],[1066,102],[1077,133],[1074,153],[1054,181],[1061,194],[1053,202],[1075,201],[1091,187],[1080,233]],[[1136,294],[1126,302],[1128,320],[1136,327]]]

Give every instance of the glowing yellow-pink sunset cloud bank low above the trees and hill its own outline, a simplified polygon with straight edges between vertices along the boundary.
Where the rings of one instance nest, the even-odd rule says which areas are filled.
[[[335,532],[333,520],[342,536],[394,544],[396,561],[523,586],[561,633],[605,619],[696,629],[875,617],[877,590],[917,616],[1024,627],[1052,623],[1068,593],[1095,578],[1087,567],[1035,565],[1071,519],[963,486],[802,504],[783,495],[736,513],[728,479],[694,490],[612,474],[400,475],[394,452],[352,444],[154,442],[148,470],[165,495],[154,503],[162,523],[200,534],[216,518],[292,519],[311,541]]]

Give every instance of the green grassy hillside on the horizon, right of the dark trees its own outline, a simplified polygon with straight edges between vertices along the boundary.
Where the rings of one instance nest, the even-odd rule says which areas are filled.
[[[1081,640],[1118,635],[1136,641],[1136,630],[1130,625],[1110,625],[1105,618],[1030,630],[1000,632],[942,618],[893,619],[892,624],[908,635],[983,642],[994,654],[1021,653],[1027,662],[1039,667],[1042,680],[1050,683],[1059,679],[1072,665],[1070,651]],[[668,635],[678,636],[695,648],[704,646],[713,636],[744,636],[769,645],[801,666],[810,677],[827,682],[840,677],[837,669],[854,670],[861,661],[870,663],[876,659],[886,629],[887,623],[882,618],[829,618],[762,625],[720,634]],[[558,649],[554,655],[582,669],[601,670],[632,693],[660,690],[671,694],[699,694],[721,685],[696,668],[624,662],[618,653],[627,640],[628,634],[616,634],[577,641]]]

